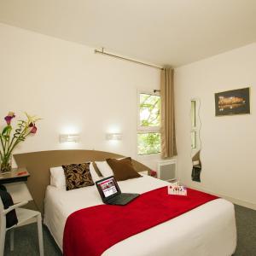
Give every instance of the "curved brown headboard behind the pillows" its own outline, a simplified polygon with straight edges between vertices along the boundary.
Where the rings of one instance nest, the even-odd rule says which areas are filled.
[[[27,180],[27,187],[34,200],[34,205],[44,214],[45,189],[49,185],[49,168],[73,163],[83,163],[84,161],[105,160],[106,158],[123,157],[120,154],[113,154],[96,150],[51,150],[39,151],[25,154],[15,154],[15,161],[18,167],[26,167],[30,173]],[[149,171],[147,166],[132,160],[137,172]]]

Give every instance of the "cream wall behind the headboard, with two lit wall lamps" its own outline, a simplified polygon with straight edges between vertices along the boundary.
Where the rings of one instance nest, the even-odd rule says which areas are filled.
[[[0,24],[0,117],[37,114],[38,134],[15,153],[84,148],[137,158],[137,89],[158,89],[160,71],[96,55],[94,49]],[[4,121],[0,121],[1,127]],[[117,143],[109,131],[123,133]],[[60,144],[78,132],[81,143]],[[144,161],[154,168],[154,160]]]

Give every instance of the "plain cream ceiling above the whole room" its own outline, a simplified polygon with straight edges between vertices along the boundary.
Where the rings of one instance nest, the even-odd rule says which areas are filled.
[[[255,0],[0,0],[0,22],[178,67],[256,41]]]

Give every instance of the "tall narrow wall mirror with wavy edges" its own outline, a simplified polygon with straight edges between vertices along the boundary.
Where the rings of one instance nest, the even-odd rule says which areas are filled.
[[[191,160],[192,160],[192,180],[201,182],[201,139],[200,139],[200,100],[191,99],[190,101],[190,119],[191,119]]]

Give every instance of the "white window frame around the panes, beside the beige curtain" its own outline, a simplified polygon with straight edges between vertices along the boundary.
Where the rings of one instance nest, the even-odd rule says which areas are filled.
[[[159,126],[141,126],[141,119],[140,119],[140,95],[147,94],[152,96],[160,96],[160,92],[153,90],[137,90],[137,134],[144,134],[144,133],[160,133],[160,125]],[[136,135],[137,135],[136,134]],[[138,154],[138,139],[137,139],[137,155],[138,156],[149,156],[149,155],[157,155],[158,153],[148,153],[148,154]]]

